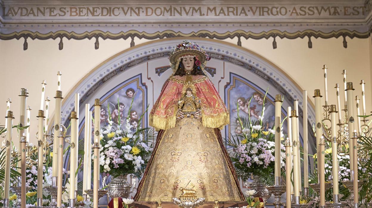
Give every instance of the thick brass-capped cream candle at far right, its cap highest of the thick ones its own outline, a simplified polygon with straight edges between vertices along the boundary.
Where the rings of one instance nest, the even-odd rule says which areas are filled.
[[[347,93],[347,127],[349,129],[349,156],[350,156],[350,180],[353,180],[352,170],[354,168],[353,166],[353,132],[355,129],[354,126],[354,104],[353,104],[353,98],[354,98],[354,89],[353,89],[353,83],[348,82],[346,84],[346,93]]]

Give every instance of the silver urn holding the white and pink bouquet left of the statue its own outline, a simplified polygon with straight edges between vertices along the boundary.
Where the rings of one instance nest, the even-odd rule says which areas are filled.
[[[129,194],[133,193],[134,188],[136,186],[136,179],[133,177],[134,175],[131,174],[130,183],[127,181],[128,174],[121,175],[119,177],[112,177],[111,182],[106,185],[107,176],[103,178],[102,186],[107,186],[108,195],[111,198],[121,197],[121,198],[128,198]]]

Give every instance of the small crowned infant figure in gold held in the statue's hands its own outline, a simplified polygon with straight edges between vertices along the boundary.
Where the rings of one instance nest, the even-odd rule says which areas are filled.
[[[196,111],[200,110],[200,100],[193,95],[192,89],[187,88],[186,94],[178,101],[178,109],[186,117],[194,118]]]

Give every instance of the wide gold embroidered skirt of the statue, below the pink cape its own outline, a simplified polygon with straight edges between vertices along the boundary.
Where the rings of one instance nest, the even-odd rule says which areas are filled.
[[[201,119],[177,119],[174,128],[159,132],[134,199],[171,201],[187,183],[205,201],[244,201],[221,132],[203,127]]]

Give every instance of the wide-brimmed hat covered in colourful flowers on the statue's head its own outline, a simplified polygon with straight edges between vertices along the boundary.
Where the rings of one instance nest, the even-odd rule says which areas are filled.
[[[211,57],[204,51],[203,48],[199,47],[198,44],[191,41],[183,41],[176,45],[173,51],[170,52],[169,62],[173,71],[177,70],[178,65],[182,57],[196,57],[201,62],[201,68],[204,69],[206,61],[209,61]]]

